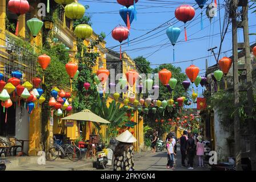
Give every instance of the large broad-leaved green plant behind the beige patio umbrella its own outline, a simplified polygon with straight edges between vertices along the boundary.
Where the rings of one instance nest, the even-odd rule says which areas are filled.
[[[91,108],[91,111],[93,113],[99,115],[100,117],[106,119],[110,123],[108,124],[101,124],[101,126],[106,126],[105,133],[101,134],[102,142],[109,144],[110,139],[112,137],[116,137],[118,134],[117,127],[121,126],[123,122],[127,119],[126,117],[126,111],[121,107],[121,104],[118,102],[115,102],[114,100],[109,104],[109,107],[107,107],[107,98],[109,97],[108,94],[106,94],[105,97],[101,98],[98,97],[94,100],[94,105]]]

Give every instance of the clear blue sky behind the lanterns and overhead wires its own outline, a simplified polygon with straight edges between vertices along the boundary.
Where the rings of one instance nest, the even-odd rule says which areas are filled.
[[[102,31],[106,33],[106,47],[118,46],[119,42],[111,37],[110,32],[115,26],[118,26],[118,24],[125,24],[121,16],[119,15],[119,9],[122,6],[119,5],[116,0],[80,0],[79,2],[83,3],[83,5],[90,6],[86,13],[89,13],[92,16],[91,22],[93,23],[93,30],[97,34]],[[210,2],[211,1],[208,0],[207,4]],[[149,60],[151,64],[173,63],[173,47],[171,45],[161,47],[161,44],[169,43],[169,39],[167,38],[165,31],[166,28],[170,26],[170,24],[165,24],[165,26],[163,26],[162,28],[152,31],[145,36],[142,35],[146,34],[150,30],[153,30],[155,27],[158,27],[161,24],[167,22],[167,20],[174,18],[175,9],[182,3],[189,4],[191,6],[195,5],[194,0],[139,0],[136,4],[138,12],[137,21],[134,20],[133,23],[131,23],[130,40],[137,38],[137,40],[140,41],[138,41],[137,43],[130,43],[129,47],[127,45],[124,45],[122,47],[123,51],[126,51],[128,55],[132,58],[135,58],[137,56],[147,57],[147,60]],[[223,0],[220,0],[220,3],[221,6],[219,7],[222,8]],[[194,7],[197,8],[198,6],[196,5]],[[219,47],[221,38],[219,36],[219,12],[217,13],[217,17],[214,17],[212,23],[210,24],[209,19],[207,19],[207,16],[205,15],[205,10],[203,10],[203,30],[201,30],[200,26],[200,14],[201,9],[197,9],[195,11],[195,20],[193,20],[193,22],[191,22],[189,26],[187,26],[187,36],[189,36],[187,42],[184,42],[183,22],[177,22],[175,18],[170,22],[177,22],[174,25],[181,27],[182,29],[181,35],[178,39],[178,41],[181,42],[177,43],[175,46],[175,62],[196,59],[195,61],[193,61],[193,64],[197,65],[200,69],[202,69],[199,75],[204,75],[205,70],[203,69],[205,69],[206,58],[209,60],[209,66],[216,63],[214,57],[205,57],[210,55],[210,52],[207,52],[207,49],[215,46]],[[220,15],[222,26],[224,8],[221,9]],[[250,33],[256,32],[256,26],[254,26],[256,24],[255,22],[255,14],[249,13],[249,26],[251,26],[249,28]],[[205,37],[202,38],[203,36]],[[195,40],[195,38],[201,39]],[[238,40],[242,40],[241,38],[242,34],[239,34]],[[227,51],[232,48],[231,40],[232,39],[230,26],[223,42],[221,52]],[[250,36],[250,42],[255,42],[255,36]],[[158,46],[154,47],[155,45]],[[139,49],[142,47],[144,48]],[[119,47],[114,48],[114,51],[119,51]],[[215,49],[215,52],[218,52],[218,49]],[[232,51],[222,53],[220,58],[223,56],[231,56],[231,53]],[[199,57],[205,58],[198,59]],[[182,71],[185,72],[186,67],[189,67],[190,64],[192,64],[191,61],[174,65],[181,67]],[[152,65],[153,68],[155,66],[156,65]],[[201,90],[200,92],[202,92],[201,88],[199,88],[198,90]]]

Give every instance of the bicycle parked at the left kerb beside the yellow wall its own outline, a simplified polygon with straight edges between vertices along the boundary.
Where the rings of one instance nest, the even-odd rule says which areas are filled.
[[[59,156],[61,158],[69,158],[69,160],[75,162],[81,159],[81,150],[77,146],[74,146],[73,144],[62,144],[59,145],[57,143],[54,143],[53,146],[49,148],[46,154],[46,159],[49,161],[53,161],[57,159]]]

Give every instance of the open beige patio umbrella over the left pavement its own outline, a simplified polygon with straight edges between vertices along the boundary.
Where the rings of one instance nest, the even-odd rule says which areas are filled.
[[[94,114],[89,109],[82,110],[79,113],[75,113],[61,119],[76,120],[76,121],[91,121],[91,122],[97,122],[97,123],[110,123],[106,119],[103,119],[99,117],[97,114]]]

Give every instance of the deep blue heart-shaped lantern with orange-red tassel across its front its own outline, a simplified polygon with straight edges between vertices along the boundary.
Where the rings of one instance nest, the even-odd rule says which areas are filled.
[[[119,14],[123,19],[123,22],[125,22],[127,28],[130,30],[130,24],[133,22],[135,15],[134,6],[129,6],[128,8],[125,6],[121,7]]]

